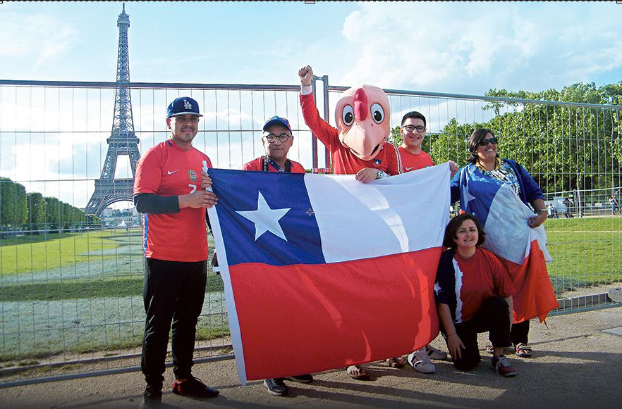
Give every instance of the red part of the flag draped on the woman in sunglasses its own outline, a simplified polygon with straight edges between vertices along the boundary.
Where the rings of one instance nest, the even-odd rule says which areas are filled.
[[[499,258],[510,277],[516,294],[514,294],[514,323],[523,322],[533,317],[538,317],[540,322],[547,318],[551,310],[557,308],[557,297],[547,272],[547,263],[544,261],[544,253],[538,246],[538,241],[531,242],[530,253],[522,265]]]

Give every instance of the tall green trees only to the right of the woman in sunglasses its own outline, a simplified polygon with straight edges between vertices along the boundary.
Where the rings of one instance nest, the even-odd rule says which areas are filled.
[[[622,82],[596,87],[572,84],[560,92],[508,92],[491,89],[487,96],[539,101],[617,104]],[[622,162],[619,111],[581,106],[553,106],[546,103],[494,101],[484,106],[501,119],[494,128],[501,136],[522,139],[517,161],[539,177],[549,191],[599,189],[619,186]],[[501,114],[501,111],[507,111]],[[503,139],[505,144],[505,139]],[[501,146],[500,146],[501,148]]]

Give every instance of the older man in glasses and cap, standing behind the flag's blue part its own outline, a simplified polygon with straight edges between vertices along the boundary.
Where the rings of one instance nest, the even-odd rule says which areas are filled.
[[[291,126],[285,118],[273,116],[263,127],[262,144],[266,154],[254,159],[243,166],[243,170],[257,170],[260,172],[291,172],[305,173],[305,168],[300,163],[287,158],[287,153],[293,144]],[[289,390],[283,382],[288,379],[293,382],[308,384],[313,381],[311,375],[298,375],[286,378],[264,379],[264,386],[268,392],[275,396],[287,395]]]

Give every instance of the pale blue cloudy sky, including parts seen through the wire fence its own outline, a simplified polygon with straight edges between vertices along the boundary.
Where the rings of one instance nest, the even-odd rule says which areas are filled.
[[[121,7],[121,2],[1,2],[0,80],[114,81]],[[328,75],[331,85],[473,95],[492,88],[538,92],[622,80],[622,4],[616,1],[139,1],[126,2],[126,13],[133,82],[296,85],[303,65]],[[0,176],[62,180],[54,187],[25,185],[85,206],[105,158],[114,92],[1,88]],[[298,102],[291,96],[262,103],[288,106],[293,115]],[[257,130],[271,115],[265,108],[250,112],[258,103],[242,101],[243,96],[233,101],[234,108],[218,110],[210,108],[209,98],[205,129],[239,122],[241,130]],[[221,96],[221,106],[225,98],[230,95]],[[155,135],[140,134],[141,149],[166,138],[159,111],[169,99],[162,92],[133,92],[136,130]],[[153,112],[143,106],[153,106]],[[300,120],[294,122],[298,127]],[[28,139],[6,132],[18,130],[30,132]],[[32,133],[42,130],[58,132]],[[61,133],[76,130],[90,133],[73,138]],[[236,141],[217,147],[208,143],[210,134],[200,134],[201,148],[221,167],[239,168],[262,153],[256,132],[239,133]],[[294,158],[309,149],[305,138],[298,138]],[[231,151],[242,153],[231,158]],[[127,163],[120,166],[128,172]]]

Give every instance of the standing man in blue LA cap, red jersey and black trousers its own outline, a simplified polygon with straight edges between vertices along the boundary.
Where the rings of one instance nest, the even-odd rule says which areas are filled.
[[[145,213],[142,295],[147,318],[141,368],[147,387],[141,406],[161,403],[171,321],[173,393],[198,398],[219,393],[191,374],[207,278],[205,209],[217,203],[216,195],[205,190],[212,180],[202,169],[212,162],[192,144],[202,116],[197,101],[177,98],[167,114],[171,138],[140,158],[134,180],[136,210]]]

